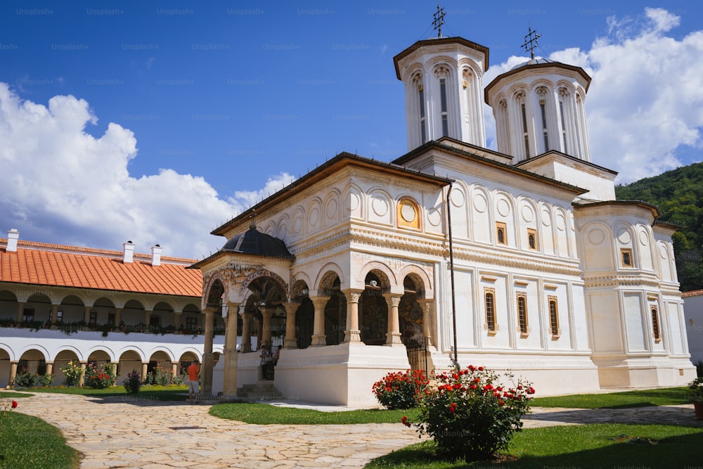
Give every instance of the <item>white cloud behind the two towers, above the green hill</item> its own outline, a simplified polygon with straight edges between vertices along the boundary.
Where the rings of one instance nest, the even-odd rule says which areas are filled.
[[[646,8],[638,18],[609,18],[610,34],[588,51],[549,56],[591,75],[586,96],[591,160],[619,172],[619,182],[681,166],[677,150],[703,146],[703,31],[674,39],[668,33],[679,23],[669,11]],[[525,60],[511,57],[491,66],[484,83]],[[490,111],[486,114],[493,140],[495,124]]]

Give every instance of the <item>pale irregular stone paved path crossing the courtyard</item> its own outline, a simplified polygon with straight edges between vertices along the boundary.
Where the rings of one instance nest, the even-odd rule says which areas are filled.
[[[418,441],[415,430],[398,424],[250,425],[210,416],[207,405],[127,396],[37,393],[20,404],[17,411],[63,432],[68,444],[83,453],[82,468],[362,468]],[[607,422],[703,426],[688,405],[615,411],[534,408],[524,417],[524,428]]]

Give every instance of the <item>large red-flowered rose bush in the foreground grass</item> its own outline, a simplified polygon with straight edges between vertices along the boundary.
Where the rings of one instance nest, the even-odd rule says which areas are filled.
[[[448,458],[476,461],[503,449],[522,417],[529,411],[534,388],[506,374],[512,386],[504,387],[498,375],[483,366],[469,366],[436,376],[437,387],[427,387],[419,400],[420,434],[430,435],[438,452]],[[413,425],[406,417],[404,425]]]

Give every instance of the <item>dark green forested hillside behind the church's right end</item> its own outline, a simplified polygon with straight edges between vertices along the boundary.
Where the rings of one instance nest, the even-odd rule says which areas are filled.
[[[703,163],[617,186],[615,195],[657,205],[662,221],[683,226],[673,235],[681,291],[703,288]]]

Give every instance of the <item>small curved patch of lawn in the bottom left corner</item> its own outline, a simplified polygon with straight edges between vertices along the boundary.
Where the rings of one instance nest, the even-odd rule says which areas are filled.
[[[5,412],[0,420],[0,468],[78,468],[79,456],[58,428],[40,418]]]

